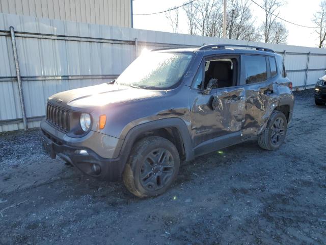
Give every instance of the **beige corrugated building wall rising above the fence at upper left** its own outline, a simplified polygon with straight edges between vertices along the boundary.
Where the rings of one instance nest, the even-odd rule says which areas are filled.
[[[0,13],[129,28],[130,9],[130,0],[0,0]]]

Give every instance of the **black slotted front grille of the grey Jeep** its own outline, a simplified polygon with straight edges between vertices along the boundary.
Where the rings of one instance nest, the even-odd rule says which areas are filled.
[[[53,127],[68,132],[70,129],[69,116],[69,110],[47,103],[46,121]]]

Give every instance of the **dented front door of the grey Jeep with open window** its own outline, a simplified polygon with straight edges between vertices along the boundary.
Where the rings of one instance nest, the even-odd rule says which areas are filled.
[[[245,92],[238,86],[238,74],[237,56],[209,57],[202,62],[189,97],[195,155],[239,139]],[[215,81],[213,86],[212,81]]]

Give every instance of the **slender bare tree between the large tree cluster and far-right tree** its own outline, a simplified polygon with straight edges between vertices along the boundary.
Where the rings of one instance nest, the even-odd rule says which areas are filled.
[[[263,0],[263,7],[265,9],[265,19],[262,24],[262,31],[265,42],[272,42],[273,29],[275,28],[275,22],[279,15],[279,8],[283,5],[281,0]]]

